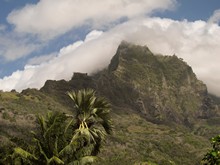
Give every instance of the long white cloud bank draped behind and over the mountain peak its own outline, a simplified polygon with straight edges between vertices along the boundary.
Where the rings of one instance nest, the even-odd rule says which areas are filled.
[[[161,18],[132,20],[93,39],[73,43],[60,50],[59,55],[37,67],[26,67],[0,80],[1,89],[22,90],[40,88],[48,79],[69,80],[73,72],[93,73],[106,67],[119,43],[127,40],[147,45],[153,52],[183,58],[208,85],[208,90],[220,96],[220,27],[204,21],[188,22]],[[86,40],[86,39],[85,39]]]

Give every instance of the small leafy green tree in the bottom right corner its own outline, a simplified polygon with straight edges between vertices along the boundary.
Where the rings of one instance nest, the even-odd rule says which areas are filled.
[[[206,153],[202,163],[205,165],[220,164],[220,135],[211,139],[212,149]]]

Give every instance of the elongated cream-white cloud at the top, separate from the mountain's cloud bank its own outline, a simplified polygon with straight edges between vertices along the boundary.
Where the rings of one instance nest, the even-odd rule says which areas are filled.
[[[155,10],[172,9],[175,0],[40,0],[12,11],[7,20],[16,31],[51,39],[72,28],[105,25],[122,17],[134,18]]]

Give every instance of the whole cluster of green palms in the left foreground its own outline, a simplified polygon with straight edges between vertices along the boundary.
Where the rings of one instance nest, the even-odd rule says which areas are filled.
[[[110,105],[94,90],[68,92],[75,115],[49,112],[37,117],[33,144],[17,147],[10,164],[87,164],[94,162],[106,134],[111,133]]]

